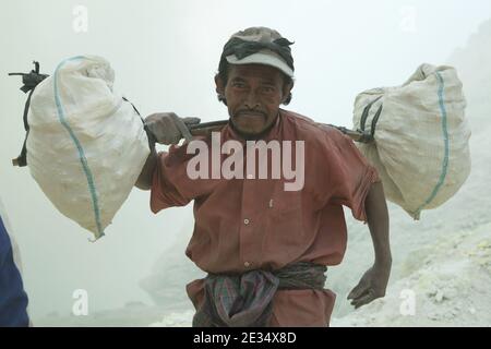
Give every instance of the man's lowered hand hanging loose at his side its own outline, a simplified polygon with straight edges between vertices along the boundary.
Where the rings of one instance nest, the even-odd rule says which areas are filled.
[[[349,292],[348,299],[355,309],[385,296],[391,275],[391,263],[376,264],[368,269],[360,282]]]

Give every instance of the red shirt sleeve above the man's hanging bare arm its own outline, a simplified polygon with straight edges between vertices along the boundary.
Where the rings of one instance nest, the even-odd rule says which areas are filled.
[[[347,206],[356,219],[367,221],[364,200],[371,185],[380,182],[379,173],[350,137],[330,129],[326,130],[328,203]]]

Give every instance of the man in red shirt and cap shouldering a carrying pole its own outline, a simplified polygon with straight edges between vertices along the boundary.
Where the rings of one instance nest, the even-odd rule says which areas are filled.
[[[154,149],[136,186],[152,190],[154,213],[194,200],[187,255],[208,273],[188,285],[194,326],[328,325],[335,294],[324,289],[324,272],[342,262],[346,249],[342,205],[368,222],[375,250],[373,266],[348,298],[358,308],[385,294],[392,258],[382,184],[347,136],[279,108],[291,99],[291,44],[265,27],[232,35],[215,83],[230,116],[219,141],[238,141],[243,149],[254,140],[290,142],[296,149],[297,141],[304,142],[304,154],[296,158],[304,170],[301,190],[285,190],[285,177],[191,179],[194,155],[188,148],[194,141],[173,145],[180,130],[199,120],[175,113],[145,120],[157,142],[172,146],[168,153]],[[215,142],[200,141],[211,147]],[[246,151],[240,156],[248,163]],[[271,158],[265,161],[271,169]]]

